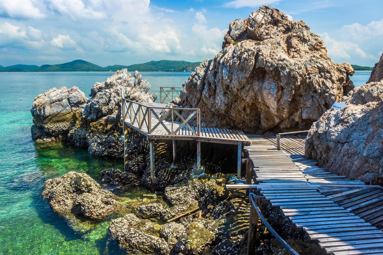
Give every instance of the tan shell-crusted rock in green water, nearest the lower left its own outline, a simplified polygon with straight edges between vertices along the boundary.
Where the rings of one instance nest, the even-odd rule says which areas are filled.
[[[75,222],[75,216],[100,220],[118,209],[118,197],[85,173],[69,172],[61,177],[49,179],[41,193],[51,208]]]

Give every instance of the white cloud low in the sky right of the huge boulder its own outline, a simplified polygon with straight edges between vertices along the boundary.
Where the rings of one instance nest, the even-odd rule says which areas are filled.
[[[321,34],[324,44],[327,47],[328,55],[333,58],[334,62],[352,62],[358,59],[377,60],[374,55],[364,52],[358,44],[353,42],[336,41],[330,38],[327,33]]]

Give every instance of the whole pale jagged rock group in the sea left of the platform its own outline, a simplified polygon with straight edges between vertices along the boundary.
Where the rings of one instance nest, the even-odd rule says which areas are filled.
[[[121,88],[130,100],[154,102],[157,97],[148,93],[150,84],[142,75],[135,71],[132,76],[127,69],[95,83],[90,99],[77,87],[49,89],[33,102],[33,139],[68,140],[75,146],[87,147],[91,154],[122,157]],[[141,145],[139,136],[132,139]]]

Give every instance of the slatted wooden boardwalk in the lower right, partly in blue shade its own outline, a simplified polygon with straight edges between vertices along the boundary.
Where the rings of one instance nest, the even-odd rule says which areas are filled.
[[[380,187],[319,168],[316,161],[301,154],[299,138],[287,137],[290,147],[295,147],[285,147],[290,154],[278,151],[273,139],[248,136],[252,145],[245,148],[254,165],[254,186],[273,206],[280,207],[295,227],[303,229],[309,240],[334,255],[383,254],[383,232],[378,223],[383,210],[376,209],[383,201],[378,199]]]

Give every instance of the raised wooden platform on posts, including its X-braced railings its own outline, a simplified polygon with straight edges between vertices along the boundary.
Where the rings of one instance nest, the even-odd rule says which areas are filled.
[[[162,97],[162,91],[165,96]],[[124,133],[124,163],[126,164],[128,155],[128,128],[134,128],[149,140],[150,159],[151,159],[151,180],[152,190],[154,190],[154,140],[172,140],[173,141],[173,161],[175,161],[175,141],[192,140],[197,144],[197,162],[196,166],[201,167],[201,142],[224,143],[238,145],[238,163],[237,175],[241,177],[241,154],[242,145],[250,145],[251,141],[241,131],[237,129],[201,127],[200,109],[194,108],[174,108],[168,107],[164,103],[165,99],[174,98],[176,88],[160,88],[160,102],[135,102],[121,96],[121,119],[123,121]],[[172,93],[172,97],[170,97]],[[175,93],[179,95],[178,92]],[[122,89],[121,95],[124,95]],[[183,115],[184,114],[184,115]],[[187,115],[187,117],[183,117]],[[195,123],[195,125],[192,125]]]

